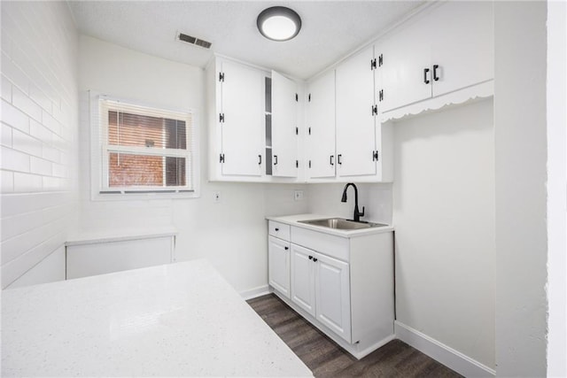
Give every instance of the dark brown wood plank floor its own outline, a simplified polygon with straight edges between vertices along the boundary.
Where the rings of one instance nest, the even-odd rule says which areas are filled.
[[[248,304],[315,377],[461,377],[400,340],[357,360],[274,294],[251,299]]]

